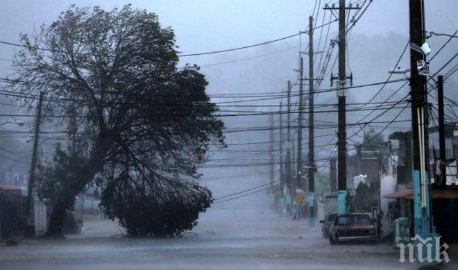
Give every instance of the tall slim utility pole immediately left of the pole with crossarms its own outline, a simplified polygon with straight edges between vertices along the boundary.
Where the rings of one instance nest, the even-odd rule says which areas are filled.
[[[315,226],[314,74],[313,16],[309,17],[309,226]]]

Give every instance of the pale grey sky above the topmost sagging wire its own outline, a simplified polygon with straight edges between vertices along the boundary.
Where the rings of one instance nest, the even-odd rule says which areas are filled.
[[[328,1],[321,1],[323,3]],[[336,1],[333,1],[336,2]],[[427,28],[454,31],[456,0],[427,0]],[[176,31],[177,43],[185,53],[239,47],[290,35],[307,26],[314,0],[144,0],[144,1],[67,1],[3,0],[0,33],[4,40],[17,41],[18,33],[31,33],[33,27],[52,22],[71,3],[78,6],[121,7],[133,3],[159,15],[163,26]],[[384,35],[407,33],[407,0],[374,0],[355,33]],[[434,16],[433,16],[434,15]],[[8,49],[1,48],[2,56]],[[199,59],[194,59],[200,62]]]

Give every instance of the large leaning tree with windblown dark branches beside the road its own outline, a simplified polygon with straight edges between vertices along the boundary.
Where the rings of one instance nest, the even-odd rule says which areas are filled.
[[[49,235],[62,233],[65,212],[90,183],[101,188],[105,213],[129,233],[192,228],[212,202],[193,179],[210,144],[224,146],[223,122],[198,68],[177,67],[171,28],[130,6],[71,6],[21,42],[12,91],[24,106],[44,92],[45,119],[71,127],[75,137],[40,176],[40,195],[53,205]],[[139,217],[155,221],[138,226]]]

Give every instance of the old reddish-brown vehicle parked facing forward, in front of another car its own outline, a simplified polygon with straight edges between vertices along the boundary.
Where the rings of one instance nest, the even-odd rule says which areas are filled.
[[[330,244],[345,240],[365,240],[375,242],[374,221],[369,214],[350,213],[339,214],[329,229]]]

